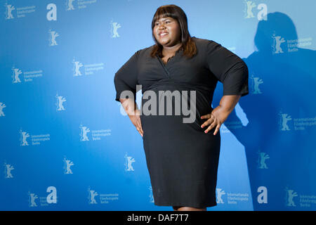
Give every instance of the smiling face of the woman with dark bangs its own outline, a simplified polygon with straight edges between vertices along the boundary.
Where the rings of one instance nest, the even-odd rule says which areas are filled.
[[[171,18],[160,18],[154,23],[154,37],[162,46],[174,46],[180,42],[178,21]]]

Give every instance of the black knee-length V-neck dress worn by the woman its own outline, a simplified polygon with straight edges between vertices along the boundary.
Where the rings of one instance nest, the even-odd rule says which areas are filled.
[[[153,46],[140,49],[115,73],[116,101],[122,91],[132,91],[142,85],[142,94],[151,90],[195,91],[196,119],[184,123],[187,115],[140,115],[143,126],[143,145],[152,184],[155,205],[210,207],[216,204],[216,181],[220,153],[220,132],[215,127],[207,134],[201,128],[211,113],[213,91],[218,80],[223,83],[223,95],[249,94],[248,68],[237,55],[215,41],[192,37],[197,54],[190,59],[183,50],[176,52],[166,65],[156,56],[150,57]],[[150,99],[150,98],[147,98]],[[148,101],[142,98],[142,105]],[[172,107],[177,103],[172,98]],[[159,108],[157,98],[157,108]],[[164,104],[166,109],[166,101]]]

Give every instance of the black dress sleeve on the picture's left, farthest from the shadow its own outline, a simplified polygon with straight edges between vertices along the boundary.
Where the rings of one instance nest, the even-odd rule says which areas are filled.
[[[134,99],[136,100],[136,84],[138,84],[138,61],[139,51],[127,60],[127,62],[119,68],[114,76],[114,85],[117,91],[115,101],[119,101],[121,92],[131,91],[133,93]],[[124,96],[124,98],[129,98],[129,96]]]

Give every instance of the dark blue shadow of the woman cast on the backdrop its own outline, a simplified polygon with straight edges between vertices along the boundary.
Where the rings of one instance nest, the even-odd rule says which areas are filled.
[[[243,123],[235,108],[224,124],[245,148],[254,210],[300,210],[300,194],[316,195],[316,53],[300,48],[310,40],[298,39],[288,15],[267,16],[254,37],[258,51],[243,58],[249,95],[239,105],[249,123],[232,127]],[[268,204],[258,203],[260,186]]]

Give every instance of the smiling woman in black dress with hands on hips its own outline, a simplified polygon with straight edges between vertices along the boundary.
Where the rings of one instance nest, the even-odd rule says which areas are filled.
[[[136,51],[115,73],[115,100],[122,103],[143,136],[154,204],[170,205],[179,211],[206,210],[217,205],[219,129],[239,98],[249,94],[248,68],[241,58],[215,41],[190,37],[187,17],[175,5],[157,9],[152,37],[156,44]],[[216,108],[211,108],[218,81],[223,83],[223,97]],[[136,104],[136,85],[142,89],[141,110]],[[148,93],[159,96],[151,109],[159,112],[159,107],[166,108],[162,101],[166,97],[174,112],[179,98],[162,97],[160,91],[180,91],[181,97],[184,91],[190,93],[180,99],[190,102],[195,120],[183,122],[187,116],[183,112],[143,113],[145,105],[150,109],[147,103],[152,96]]]

